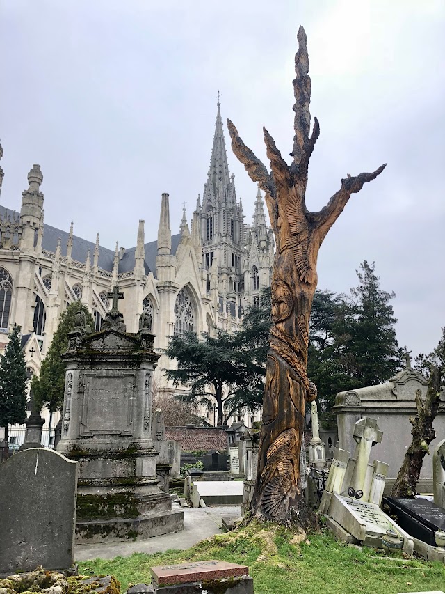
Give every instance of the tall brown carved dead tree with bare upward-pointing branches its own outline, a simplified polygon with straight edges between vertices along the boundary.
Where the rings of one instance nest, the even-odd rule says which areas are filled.
[[[257,159],[227,120],[232,150],[244,164],[250,178],[266,192],[270,224],[277,251],[272,280],[272,319],[270,350],[266,366],[263,426],[259,445],[257,483],[251,512],[257,517],[280,522],[298,516],[300,511],[300,448],[305,402],[316,398],[316,386],[307,377],[309,315],[317,285],[318,249],[327,231],[342,212],[350,195],[365,182],[377,177],[385,165],[373,173],[341,180],[341,188],[320,212],[309,212],[305,204],[307,168],[320,133],[311,115],[311,79],[306,34],[298,30],[298,52],[293,81],[296,104],[293,162],[282,158],[272,136],[264,128],[264,142],[271,173]]]

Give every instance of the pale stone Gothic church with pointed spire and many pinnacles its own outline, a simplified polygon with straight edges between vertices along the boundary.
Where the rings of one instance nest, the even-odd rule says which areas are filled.
[[[0,159],[2,154],[0,146]],[[2,181],[0,167],[0,190]],[[183,210],[179,233],[172,234],[169,196],[163,194],[157,240],[145,242],[140,220],[135,247],[102,247],[99,234],[90,242],[74,235],[73,224],[64,231],[44,223],[42,182],[40,166],[33,165],[19,214],[13,210],[14,197],[2,196],[0,206],[0,350],[10,327],[20,325],[33,373],[40,371],[67,304],[85,304],[99,330],[110,306],[107,293],[116,285],[124,293],[120,311],[128,331],[136,332],[141,313],[150,313],[159,351],[168,336],[186,331],[236,331],[245,308],[259,302],[261,290],[270,285],[273,232],[266,226],[259,189],[252,225],[244,223],[234,175],[229,175],[220,104],[204,192],[198,195],[191,226]],[[161,372],[172,364],[161,355],[156,384],[177,393]],[[200,414],[213,421],[213,412]],[[257,416],[236,420],[251,426]]]

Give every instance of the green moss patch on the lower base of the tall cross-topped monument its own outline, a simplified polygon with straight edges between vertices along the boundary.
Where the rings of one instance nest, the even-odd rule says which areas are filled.
[[[138,517],[138,499],[130,491],[108,495],[77,495],[77,519]]]

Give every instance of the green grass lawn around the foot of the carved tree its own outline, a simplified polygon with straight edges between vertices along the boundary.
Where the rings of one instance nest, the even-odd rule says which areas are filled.
[[[79,563],[79,572],[115,575],[124,593],[128,584],[150,583],[152,565],[220,559],[249,566],[255,594],[397,594],[445,590],[445,566],[414,558],[387,557],[339,542],[328,531],[291,545],[284,528],[250,524],[241,531],[213,536],[187,551],[136,553],[110,561]]]

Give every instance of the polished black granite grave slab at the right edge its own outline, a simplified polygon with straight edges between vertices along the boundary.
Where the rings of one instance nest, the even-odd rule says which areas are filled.
[[[436,546],[436,531],[445,530],[445,511],[442,508],[428,499],[384,497],[382,503],[389,505],[391,515],[397,516],[398,525],[410,536]]]

